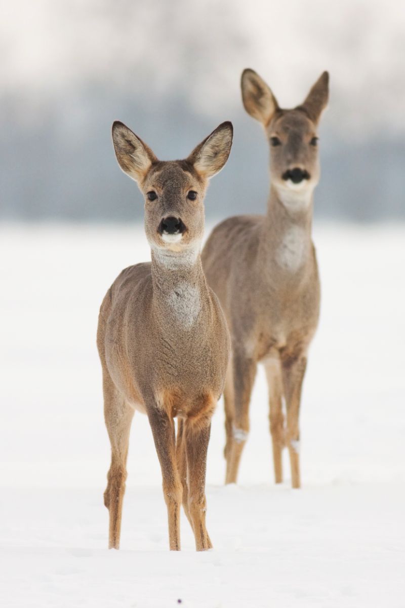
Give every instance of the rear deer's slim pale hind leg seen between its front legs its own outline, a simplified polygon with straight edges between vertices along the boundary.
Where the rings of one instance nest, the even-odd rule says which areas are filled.
[[[268,396],[270,406],[270,433],[273,444],[274,478],[276,483],[283,480],[282,449],[285,446],[284,416],[282,412],[282,373],[280,361],[277,358],[265,362],[265,371],[268,382]]]

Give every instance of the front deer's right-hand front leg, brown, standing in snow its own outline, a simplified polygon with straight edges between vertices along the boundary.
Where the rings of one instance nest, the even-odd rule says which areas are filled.
[[[197,551],[212,548],[205,525],[205,473],[211,423],[202,428],[186,422],[186,455],[188,467],[188,510],[196,539]]]

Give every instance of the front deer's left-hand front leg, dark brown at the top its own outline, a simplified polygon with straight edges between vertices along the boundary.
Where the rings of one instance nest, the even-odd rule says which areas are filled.
[[[169,548],[171,551],[180,551],[182,482],[177,471],[174,421],[155,403],[151,404],[147,411],[162,469],[163,496],[168,508]]]

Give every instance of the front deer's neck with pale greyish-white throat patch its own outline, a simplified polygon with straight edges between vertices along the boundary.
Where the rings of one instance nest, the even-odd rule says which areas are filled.
[[[152,249],[153,309],[158,317],[191,330],[196,325],[206,291],[200,249],[173,252]]]

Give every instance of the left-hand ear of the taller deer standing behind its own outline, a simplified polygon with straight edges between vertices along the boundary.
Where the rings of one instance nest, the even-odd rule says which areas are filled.
[[[246,69],[242,72],[240,88],[245,110],[267,126],[279,107],[270,87],[254,70]]]

